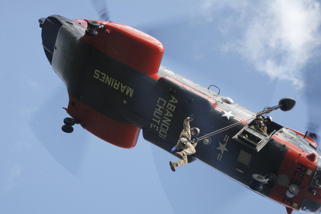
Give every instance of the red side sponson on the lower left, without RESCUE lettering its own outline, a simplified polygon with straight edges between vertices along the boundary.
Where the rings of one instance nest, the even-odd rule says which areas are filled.
[[[122,148],[133,148],[136,145],[140,128],[133,124],[111,119],[70,94],[66,111],[84,129],[110,144]]]

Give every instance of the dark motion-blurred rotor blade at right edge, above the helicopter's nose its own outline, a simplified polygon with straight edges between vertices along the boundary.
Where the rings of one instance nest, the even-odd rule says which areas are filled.
[[[319,132],[321,125],[321,88],[320,88],[320,79],[321,79],[321,63],[317,65],[309,66],[305,73],[306,80],[306,99],[308,107],[308,122],[307,129],[310,131],[309,136],[313,138],[318,146],[319,145]]]

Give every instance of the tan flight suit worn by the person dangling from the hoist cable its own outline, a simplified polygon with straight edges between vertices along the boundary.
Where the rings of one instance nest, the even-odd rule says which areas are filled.
[[[193,143],[193,145],[187,141],[186,138],[182,138],[182,136],[186,136],[189,140],[191,140],[191,127],[189,126],[189,122],[190,122],[190,118],[187,117],[185,120],[184,120],[184,129],[183,131],[181,132],[180,134],[180,137],[179,137],[179,140],[176,144],[176,147],[177,149],[183,149],[183,151],[181,152],[177,152],[177,154],[183,156],[183,158],[181,158],[179,161],[177,162],[174,162],[173,164],[177,164],[177,166],[182,166],[182,165],[185,165],[187,164],[187,155],[192,155],[196,152],[195,150],[195,147],[197,145],[197,143]],[[184,142],[184,141],[187,141],[187,143],[185,144],[185,147],[184,145],[181,143],[181,142]]]

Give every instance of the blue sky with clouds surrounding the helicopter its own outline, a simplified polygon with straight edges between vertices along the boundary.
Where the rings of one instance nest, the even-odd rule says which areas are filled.
[[[309,105],[320,99],[319,1],[107,3],[112,21],[163,43],[162,65],[254,111],[294,98],[293,110],[270,114],[281,125],[305,132],[319,120]],[[142,135],[121,149],[80,126],[62,132],[68,94],[38,19],[98,19],[91,1],[1,1],[0,10],[0,213],[286,213],[198,161],[173,173],[176,157]]]

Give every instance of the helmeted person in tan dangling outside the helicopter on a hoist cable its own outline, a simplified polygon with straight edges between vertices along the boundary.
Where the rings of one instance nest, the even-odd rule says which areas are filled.
[[[177,149],[183,149],[181,152],[177,152],[177,156],[180,158],[177,162],[169,162],[170,169],[175,172],[175,166],[182,166],[187,164],[187,155],[192,155],[196,152],[195,147],[198,142],[197,136],[200,133],[198,128],[190,128],[189,122],[194,119],[194,115],[187,117],[184,120],[184,129],[180,134],[179,140],[177,142]]]

